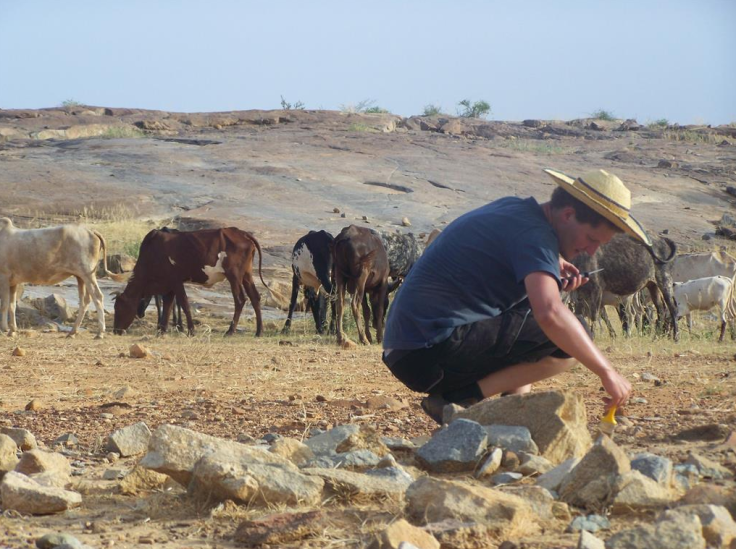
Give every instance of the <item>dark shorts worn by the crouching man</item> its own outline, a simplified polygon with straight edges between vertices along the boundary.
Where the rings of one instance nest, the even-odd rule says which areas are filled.
[[[581,316],[577,317],[590,335]],[[419,393],[443,394],[475,383],[489,374],[543,358],[570,358],[545,335],[529,308],[458,326],[432,347],[384,354],[391,373]]]

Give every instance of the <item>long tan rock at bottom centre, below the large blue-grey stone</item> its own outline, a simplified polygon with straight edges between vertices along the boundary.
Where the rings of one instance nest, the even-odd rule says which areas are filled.
[[[457,519],[486,526],[503,536],[519,528],[533,533],[536,519],[521,498],[462,482],[423,477],[406,491],[406,514],[420,524]]]

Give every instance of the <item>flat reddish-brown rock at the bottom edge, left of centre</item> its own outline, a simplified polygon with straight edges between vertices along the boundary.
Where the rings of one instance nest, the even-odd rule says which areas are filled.
[[[241,522],[235,542],[247,546],[280,546],[318,535],[324,530],[322,511],[279,513]]]

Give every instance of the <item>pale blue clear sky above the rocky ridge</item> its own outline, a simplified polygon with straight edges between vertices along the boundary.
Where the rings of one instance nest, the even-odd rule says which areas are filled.
[[[736,122],[734,0],[0,0],[0,108]]]

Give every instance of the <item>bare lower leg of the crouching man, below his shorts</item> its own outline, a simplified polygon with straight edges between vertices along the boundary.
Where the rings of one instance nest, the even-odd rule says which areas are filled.
[[[545,357],[537,362],[522,362],[493,372],[478,381],[483,398],[499,393],[523,394],[531,391],[532,383],[556,376],[572,368],[574,358]]]

